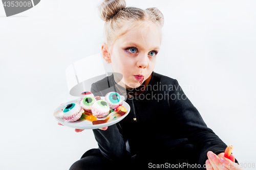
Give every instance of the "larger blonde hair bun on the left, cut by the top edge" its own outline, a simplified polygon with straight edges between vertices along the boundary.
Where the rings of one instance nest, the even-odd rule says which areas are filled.
[[[110,20],[117,12],[124,9],[126,3],[124,0],[104,0],[99,7],[100,18],[104,21]]]

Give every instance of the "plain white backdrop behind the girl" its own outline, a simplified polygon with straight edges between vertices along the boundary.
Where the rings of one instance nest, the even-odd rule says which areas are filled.
[[[58,126],[53,111],[75,99],[66,68],[100,52],[104,22],[99,3],[42,0],[11,17],[0,5],[0,169],[69,169],[84,152],[97,148],[91,130],[76,133]],[[239,162],[256,163],[256,2],[126,4],[161,10],[165,23],[155,71],[179,81],[207,126],[234,145]]]

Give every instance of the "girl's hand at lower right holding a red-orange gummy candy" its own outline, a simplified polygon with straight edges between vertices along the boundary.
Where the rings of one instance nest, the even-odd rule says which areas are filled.
[[[220,169],[232,169],[232,170],[241,170],[243,168],[240,168],[239,164],[234,162],[234,156],[231,154],[229,160],[224,156],[224,153],[218,154],[218,156],[209,151],[207,153],[208,159],[205,162],[206,169],[207,170],[220,170]]]

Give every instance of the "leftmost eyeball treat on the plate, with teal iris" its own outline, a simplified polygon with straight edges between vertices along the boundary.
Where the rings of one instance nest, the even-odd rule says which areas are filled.
[[[63,117],[62,118],[69,122],[74,122],[81,117],[83,112],[84,111],[79,104],[70,103],[63,108]]]

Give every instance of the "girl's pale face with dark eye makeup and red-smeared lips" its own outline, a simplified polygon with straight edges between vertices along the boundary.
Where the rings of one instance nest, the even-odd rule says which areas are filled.
[[[160,43],[159,29],[153,23],[120,36],[110,53],[113,71],[123,75],[118,84],[126,89],[137,88],[150,77]]]

